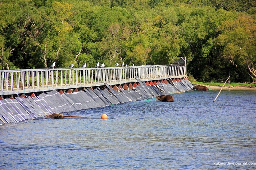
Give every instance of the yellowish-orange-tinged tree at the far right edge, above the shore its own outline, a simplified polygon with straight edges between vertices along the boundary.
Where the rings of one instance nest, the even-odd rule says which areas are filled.
[[[256,20],[240,13],[236,20],[226,20],[217,38],[223,47],[222,57],[228,59],[238,70],[248,69],[249,75],[256,82]],[[248,77],[244,72],[242,77]],[[242,78],[240,77],[240,78]]]

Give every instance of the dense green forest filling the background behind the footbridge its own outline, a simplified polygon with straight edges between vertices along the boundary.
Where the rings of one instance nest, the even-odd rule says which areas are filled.
[[[1,0],[1,69],[170,65],[256,82],[255,0]]]

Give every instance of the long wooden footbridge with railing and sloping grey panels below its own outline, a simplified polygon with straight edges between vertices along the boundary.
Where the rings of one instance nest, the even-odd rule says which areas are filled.
[[[0,124],[192,90],[186,65],[0,70]]]

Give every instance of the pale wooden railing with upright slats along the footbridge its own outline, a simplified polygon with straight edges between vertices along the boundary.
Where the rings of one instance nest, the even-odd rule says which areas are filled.
[[[68,88],[100,83],[157,80],[167,77],[185,77],[186,66],[105,67],[88,69],[27,69],[0,70],[0,95],[6,92],[49,88]],[[42,90],[44,91],[44,90]]]

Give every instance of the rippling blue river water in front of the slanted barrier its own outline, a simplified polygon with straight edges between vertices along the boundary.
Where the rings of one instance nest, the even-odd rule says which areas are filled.
[[[256,92],[191,91],[0,126],[0,169],[255,169]],[[105,113],[109,119],[99,119]]]

